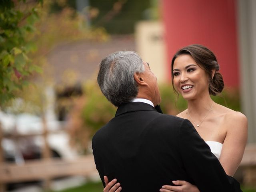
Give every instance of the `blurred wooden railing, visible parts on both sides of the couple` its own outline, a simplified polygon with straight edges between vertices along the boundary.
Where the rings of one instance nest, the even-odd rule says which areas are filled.
[[[240,167],[245,185],[256,184],[256,144],[248,144]],[[2,163],[0,165],[0,183],[30,180],[50,180],[59,176],[97,175],[93,155],[86,155],[74,160],[42,159],[26,161],[23,165]]]

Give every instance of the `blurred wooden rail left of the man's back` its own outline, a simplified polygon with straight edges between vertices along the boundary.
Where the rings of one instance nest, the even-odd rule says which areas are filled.
[[[26,161],[23,165],[4,163],[0,166],[0,182],[45,180],[60,176],[97,174],[92,155],[74,160],[42,159]]]

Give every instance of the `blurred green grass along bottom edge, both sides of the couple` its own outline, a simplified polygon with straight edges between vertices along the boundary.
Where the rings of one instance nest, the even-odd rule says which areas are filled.
[[[242,187],[243,192],[256,192],[256,188]],[[103,192],[102,182],[89,182],[76,188],[70,188],[58,192]]]

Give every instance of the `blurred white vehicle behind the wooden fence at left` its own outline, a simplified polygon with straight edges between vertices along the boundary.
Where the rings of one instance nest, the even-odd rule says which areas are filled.
[[[7,161],[18,164],[25,160],[41,158],[44,146],[42,118],[32,114],[6,114],[0,111],[0,123],[3,135],[2,148]],[[65,122],[46,121],[47,142],[53,157],[73,159],[78,156],[69,145],[69,135],[65,131]]]

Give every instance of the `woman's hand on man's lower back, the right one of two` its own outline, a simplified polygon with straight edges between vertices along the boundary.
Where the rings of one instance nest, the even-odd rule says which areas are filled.
[[[195,185],[192,185],[186,181],[173,181],[172,183],[177,186],[164,185],[159,191],[160,192],[200,192]]]

